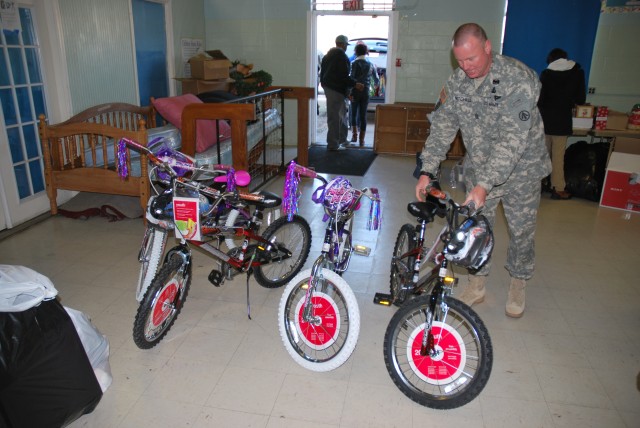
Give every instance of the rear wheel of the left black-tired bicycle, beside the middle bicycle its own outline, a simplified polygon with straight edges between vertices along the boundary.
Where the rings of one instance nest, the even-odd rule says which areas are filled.
[[[309,223],[298,215],[293,216],[291,221],[288,221],[287,217],[280,217],[271,223],[262,237],[276,244],[277,250],[264,251],[260,254],[260,257],[266,260],[255,269],[256,281],[266,288],[281,287],[300,272],[309,256],[311,249]],[[291,252],[291,257],[277,260],[285,252]]]

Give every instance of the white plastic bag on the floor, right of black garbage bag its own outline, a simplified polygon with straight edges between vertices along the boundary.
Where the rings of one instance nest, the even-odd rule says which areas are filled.
[[[66,306],[64,308],[71,317],[73,325],[76,327],[78,336],[80,336],[80,340],[82,341],[82,346],[89,357],[91,367],[93,367],[93,372],[104,393],[113,380],[111,376],[111,366],[109,365],[109,341],[107,337],[100,333],[96,326],[93,325],[84,312]]]

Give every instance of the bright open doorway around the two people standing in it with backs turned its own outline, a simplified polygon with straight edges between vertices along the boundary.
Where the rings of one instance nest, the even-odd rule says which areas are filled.
[[[315,12],[312,20],[313,35],[312,40],[315,45],[314,59],[315,70],[319,70],[322,56],[335,46],[335,38],[339,34],[344,34],[349,38],[350,45],[347,55],[353,55],[353,47],[358,40],[362,40],[369,47],[368,59],[376,65],[378,75],[381,77],[380,86],[372,93],[367,109],[367,133],[365,136],[365,148],[373,149],[373,136],[375,128],[375,106],[386,102],[387,98],[387,70],[388,52],[391,46],[389,31],[390,13],[384,14],[362,14],[354,12]],[[319,82],[318,73],[315,74],[315,87],[317,90],[315,133],[312,132],[312,144],[326,145],[327,140],[327,110],[326,98]],[[313,123],[313,121],[312,121]],[[313,129],[313,128],[312,128]],[[349,133],[351,135],[351,132]]]

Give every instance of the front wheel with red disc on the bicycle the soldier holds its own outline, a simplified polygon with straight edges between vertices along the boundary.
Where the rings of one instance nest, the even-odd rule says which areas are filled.
[[[384,361],[396,386],[407,397],[434,409],[453,409],[476,398],[493,365],[489,332],[467,305],[445,297],[446,314],[434,316],[433,356],[421,356],[420,345],[430,295],[408,301],[394,314],[384,337]]]

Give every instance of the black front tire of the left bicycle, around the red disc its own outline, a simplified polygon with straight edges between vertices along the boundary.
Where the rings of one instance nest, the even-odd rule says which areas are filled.
[[[188,263],[186,267],[184,275],[186,276],[186,280],[183,280],[183,290],[176,295],[176,299],[173,302],[175,304],[174,312],[164,321],[156,335],[152,338],[147,336],[146,326],[149,318],[153,316],[155,305],[158,303],[157,298],[159,293],[164,289],[166,282],[177,273],[184,263],[188,262],[184,260],[181,254],[169,253],[165,263],[147,289],[140,306],[138,306],[138,312],[136,313],[136,318],[133,323],[133,341],[138,348],[150,349],[156,346],[166,336],[178,318],[178,315],[180,315],[180,311],[189,294],[189,286],[191,285],[191,263]]]

